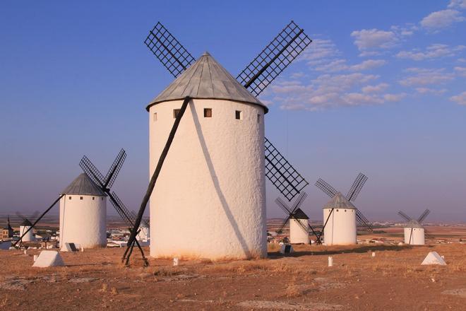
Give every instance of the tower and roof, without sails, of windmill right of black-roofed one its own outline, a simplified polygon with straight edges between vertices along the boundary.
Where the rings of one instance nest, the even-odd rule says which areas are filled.
[[[333,212],[330,215],[330,211]],[[330,218],[328,216],[330,215]],[[356,207],[340,192],[323,206],[325,245],[352,245],[357,243]]]

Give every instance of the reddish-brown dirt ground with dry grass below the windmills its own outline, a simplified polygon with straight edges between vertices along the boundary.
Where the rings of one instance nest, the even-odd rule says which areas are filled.
[[[40,250],[0,251],[0,310],[465,310],[465,244],[294,248],[148,268],[136,252],[122,266],[124,248],[61,253],[66,266],[45,269],[32,268]],[[447,266],[420,265],[433,250]]]

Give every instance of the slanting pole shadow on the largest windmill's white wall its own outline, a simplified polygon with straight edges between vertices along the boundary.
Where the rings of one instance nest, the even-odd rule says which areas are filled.
[[[220,188],[220,182],[218,181],[217,174],[215,174],[215,168],[213,167],[212,159],[210,158],[209,151],[207,149],[207,145],[205,144],[205,139],[202,134],[201,124],[199,123],[199,117],[194,109],[193,105],[189,105],[191,109],[191,114],[193,115],[194,126],[196,127],[196,133],[198,134],[199,143],[201,143],[202,152],[205,158],[205,163],[207,164],[210,172],[210,176],[212,177],[212,183],[215,188],[215,192],[217,192],[218,199],[222,205],[223,211],[225,211],[225,216],[227,216],[229,223],[232,225],[232,229],[234,230],[234,234],[237,236],[239,243],[241,243],[241,247],[243,248],[244,254],[247,258],[251,258],[251,251],[249,250],[248,245],[246,244],[246,240],[244,240],[243,235],[238,228],[238,223],[235,221],[232,211],[230,211],[227,199],[225,199],[225,195]]]

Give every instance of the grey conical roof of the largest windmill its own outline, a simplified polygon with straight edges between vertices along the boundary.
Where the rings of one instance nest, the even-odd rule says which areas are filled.
[[[165,90],[154,98],[145,109],[169,100],[191,98],[234,100],[260,105],[265,113],[268,108],[255,98],[249,90],[233,78],[208,52],[178,76]]]

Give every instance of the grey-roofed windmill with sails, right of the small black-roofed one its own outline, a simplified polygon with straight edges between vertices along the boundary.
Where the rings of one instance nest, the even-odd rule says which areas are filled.
[[[325,194],[332,198],[332,200],[330,200],[330,202],[324,206],[324,223],[321,231],[321,235],[324,234],[325,239],[333,241],[331,242],[332,244],[349,244],[349,240],[354,240],[355,243],[355,222],[357,222],[358,225],[365,227],[366,230],[372,230],[371,223],[369,223],[369,221],[361,213],[361,211],[356,209],[356,207],[354,207],[354,205],[352,204],[352,201],[356,200],[357,196],[359,195],[359,192],[361,192],[361,189],[366,183],[366,181],[366,175],[359,173],[359,175],[356,177],[356,180],[354,180],[351,188],[349,188],[347,195],[343,196],[340,192],[337,192],[335,188],[333,188],[330,184],[328,184],[321,178],[317,180],[316,187],[321,189]],[[341,213],[341,216],[333,215],[335,213],[335,209],[337,210],[337,212],[340,212],[340,209],[343,211],[343,213]],[[330,228],[327,228],[330,217],[332,217],[332,221],[330,221]],[[340,221],[342,222],[341,224],[339,223]],[[325,230],[326,228],[328,230]],[[328,241],[325,242],[325,244],[328,244]]]

